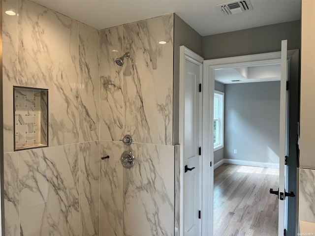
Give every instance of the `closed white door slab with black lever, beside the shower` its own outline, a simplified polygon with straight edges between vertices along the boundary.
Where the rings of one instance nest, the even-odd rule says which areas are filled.
[[[185,60],[184,236],[201,235],[201,83],[200,64]]]

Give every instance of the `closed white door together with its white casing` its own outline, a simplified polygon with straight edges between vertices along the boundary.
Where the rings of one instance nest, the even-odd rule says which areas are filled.
[[[180,48],[180,235],[201,235],[201,108],[202,58]],[[185,166],[193,168],[185,173]]]

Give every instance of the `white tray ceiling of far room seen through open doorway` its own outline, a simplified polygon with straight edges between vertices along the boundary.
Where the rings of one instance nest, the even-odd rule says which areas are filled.
[[[280,81],[280,78],[280,64],[215,70],[215,80],[222,84]]]

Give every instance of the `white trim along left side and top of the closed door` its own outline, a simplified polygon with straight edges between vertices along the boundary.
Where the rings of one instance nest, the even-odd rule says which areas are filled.
[[[180,145],[180,204],[179,204],[179,216],[180,216],[180,236],[184,234],[184,109],[185,109],[185,60],[199,65],[200,76],[203,73],[203,58],[195,54],[185,46],[180,46],[180,75],[179,75],[179,143]],[[202,80],[202,78],[201,78]],[[200,103],[200,111],[202,109],[202,102]],[[201,114],[200,114],[200,118]],[[200,125],[202,126],[202,125]],[[201,129],[201,127],[200,127]],[[201,134],[200,130],[200,134]],[[201,197],[201,196],[200,196]],[[176,212],[175,212],[176,214]],[[201,224],[202,225],[202,224]]]

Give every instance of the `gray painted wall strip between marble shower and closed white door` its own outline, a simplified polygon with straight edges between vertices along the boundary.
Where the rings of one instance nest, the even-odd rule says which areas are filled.
[[[202,56],[202,37],[185,21],[174,14],[174,89],[173,89],[173,144],[179,144],[179,47],[185,45]]]

